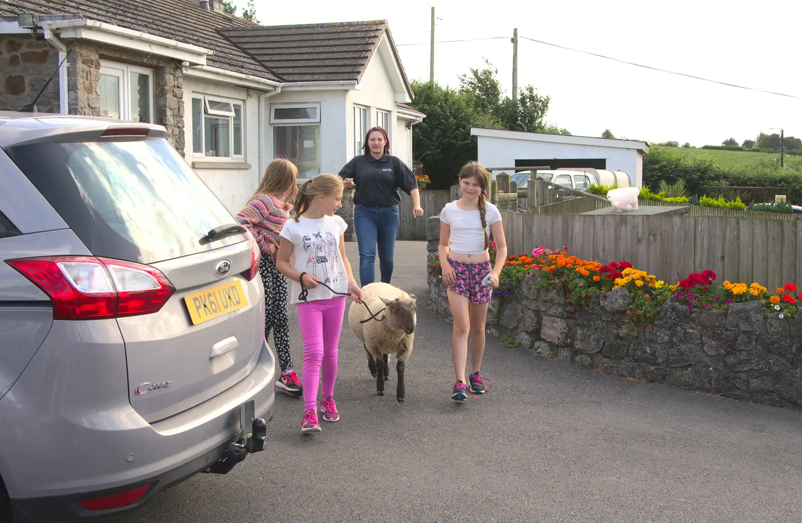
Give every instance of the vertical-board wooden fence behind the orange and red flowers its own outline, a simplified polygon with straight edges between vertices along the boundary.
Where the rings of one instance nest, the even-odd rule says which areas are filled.
[[[501,211],[510,254],[543,245],[582,259],[630,261],[676,283],[692,272],[715,271],[718,282],[773,290],[802,285],[800,221],[713,216],[581,216]]]

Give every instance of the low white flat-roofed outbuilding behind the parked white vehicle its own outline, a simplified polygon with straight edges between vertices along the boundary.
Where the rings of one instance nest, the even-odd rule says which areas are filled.
[[[478,160],[488,167],[548,165],[550,169],[625,171],[638,188],[643,184],[643,155],[649,152],[646,142],[635,140],[482,128],[472,128],[471,136],[476,136]]]

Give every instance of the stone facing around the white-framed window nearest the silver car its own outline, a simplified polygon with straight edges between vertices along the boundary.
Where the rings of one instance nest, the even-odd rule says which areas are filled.
[[[101,59],[150,67],[154,70],[155,123],[167,128],[168,141],[184,154],[184,69],[180,63],[163,56],[81,40],[68,45],[73,49],[68,61],[74,64],[67,79],[71,114],[101,116]]]

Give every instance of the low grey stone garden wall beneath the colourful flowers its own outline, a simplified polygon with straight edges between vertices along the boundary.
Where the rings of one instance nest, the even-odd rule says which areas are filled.
[[[652,328],[626,316],[626,290],[572,316],[565,296],[527,276],[494,298],[488,332],[549,359],[647,382],[802,411],[802,314],[777,318],[763,302],[688,310],[669,299]],[[442,278],[429,276],[431,309],[451,318]]]

